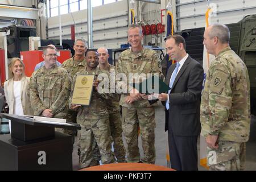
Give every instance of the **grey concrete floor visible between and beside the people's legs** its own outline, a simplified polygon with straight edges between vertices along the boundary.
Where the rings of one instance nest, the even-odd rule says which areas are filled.
[[[156,111],[156,129],[155,129],[155,150],[156,150],[156,160],[155,164],[159,166],[167,167],[166,152],[168,150],[167,133],[164,132],[164,107],[162,104],[158,104],[155,107]],[[77,170],[79,168],[79,158],[77,156],[77,138],[73,151],[73,169]],[[197,150],[199,150],[200,142],[197,144]],[[139,138],[139,148],[141,151],[141,156],[143,156],[141,147],[141,138]],[[199,153],[199,152],[198,152]],[[205,171],[204,167],[199,165],[200,171]],[[250,127],[250,139],[246,143],[246,170],[256,171],[256,117],[252,115],[251,117],[251,127]]]

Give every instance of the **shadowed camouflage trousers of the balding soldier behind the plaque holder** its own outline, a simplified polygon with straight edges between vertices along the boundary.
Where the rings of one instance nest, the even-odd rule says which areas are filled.
[[[114,142],[114,154],[117,158],[118,163],[125,163],[125,147],[123,145],[122,139],[122,123],[119,111],[117,113],[109,114],[110,122],[110,131],[111,137]],[[94,140],[93,142],[93,162],[96,163],[97,160],[100,160],[100,151],[98,150],[97,143]]]

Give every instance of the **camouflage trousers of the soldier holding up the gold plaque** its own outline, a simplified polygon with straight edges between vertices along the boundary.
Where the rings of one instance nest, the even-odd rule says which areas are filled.
[[[94,139],[100,150],[102,164],[114,163],[114,155],[111,151],[109,119],[90,119],[79,124],[82,127],[78,134],[80,168],[89,167],[92,163]]]

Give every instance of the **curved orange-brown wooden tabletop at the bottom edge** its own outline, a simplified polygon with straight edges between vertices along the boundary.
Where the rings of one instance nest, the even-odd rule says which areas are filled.
[[[143,163],[114,163],[93,166],[81,169],[80,171],[175,171],[174,169],[154,164]]]

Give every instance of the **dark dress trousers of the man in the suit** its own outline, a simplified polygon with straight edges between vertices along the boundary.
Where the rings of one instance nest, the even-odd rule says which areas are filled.
[[[168,129],[171,168],[178,171],[197,171],[197,136],[175,136]]]

